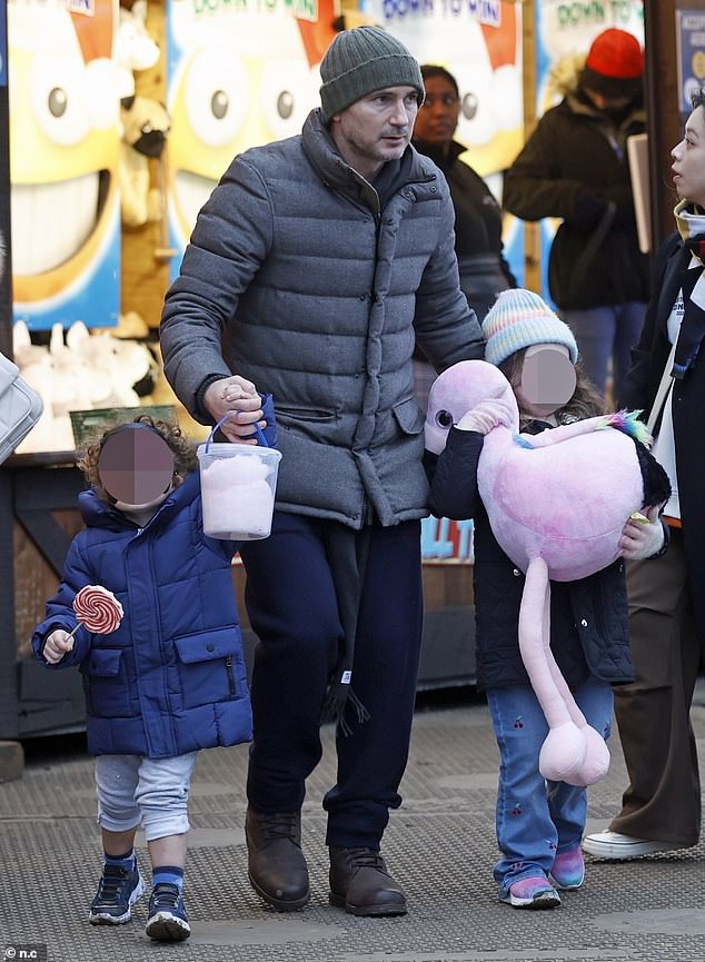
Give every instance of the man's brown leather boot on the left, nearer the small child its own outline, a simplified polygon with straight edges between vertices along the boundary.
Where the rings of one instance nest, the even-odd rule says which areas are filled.
[[[257,894],[278,912],[308,902],[308,869],[301,852],[301,813],[264,815],[247,810],[248,875]]]

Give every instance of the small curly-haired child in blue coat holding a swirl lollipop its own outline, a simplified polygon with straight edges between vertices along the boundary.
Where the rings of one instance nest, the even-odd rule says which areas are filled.
[[[274,446],[271,398],[262,408]],[[32,647],[47,666],[78,665],[83,676],[105,850],[89,921],[130,920],[145,891],[133,847],[142,825],[152,866],[146,932],[180,941],[190,934],[182,890],[198,751],[251,738],[230,572],[238,544],[203,534],[196,453],[175,425],[140,415],[106,432],[79,467],[91,485],[79,495],[86,528]],[[88,585],[121,604],[116,631],[77,628],[72,602]]]

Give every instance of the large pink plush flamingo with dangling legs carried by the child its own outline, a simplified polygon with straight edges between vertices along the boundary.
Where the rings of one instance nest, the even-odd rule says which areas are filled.
[[[477,480],[497,542],[526,575],[519,648],[549,727],[539,771],[549,780],[589,785],[606,774],[609,752],[550,651],[549,579],[583,578],[619,556],[625,520],[644,506],[635,439],[646,443],[648,435],[637,415],[625,411],[519,435],[509,381],[494,365],[467,360],[434,381],[428,450],[440,454],[450,426],[489,398],[502,401],[507,423],[485,435]]]

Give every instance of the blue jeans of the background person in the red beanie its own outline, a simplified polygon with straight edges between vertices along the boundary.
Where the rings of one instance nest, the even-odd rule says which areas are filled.
[[[560,315],[578,343],[583,370],[600,394],[605,394],[612,358],[613,395],[618,399],[630,365],[632,348],[644,327],[646,305],[639,300]]]

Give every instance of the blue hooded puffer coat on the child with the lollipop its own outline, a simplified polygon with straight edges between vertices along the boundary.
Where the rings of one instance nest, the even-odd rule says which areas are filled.
[[[238,545],[206,537],[200,479],[189,475],[138,528],[93,490],[79,495],[87,528],[73,539],[32,647],[76,626],[85,585],[109,588],[125,616],[109,635],[76,633],[51,667],[79,665],[93,755],[151,758],[251,738],[242,641],[230,576]]]

